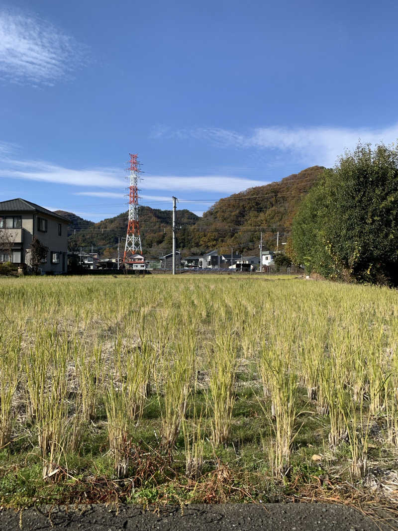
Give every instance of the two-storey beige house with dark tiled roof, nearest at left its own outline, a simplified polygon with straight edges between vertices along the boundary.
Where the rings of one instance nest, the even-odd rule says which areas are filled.
[[[40,264],[42,272],[67,271],[68,220],[40,207],[38,204],[17,198],[0,202],[0,262],[31,266],[30,247],[33,236],[48,248]],[[8,242],[7,245],[4,242]]]

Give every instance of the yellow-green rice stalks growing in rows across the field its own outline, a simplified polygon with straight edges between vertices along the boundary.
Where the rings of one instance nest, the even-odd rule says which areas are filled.
[[[352,478],[366,474],[374,418],[385,419],[386,443],[398,444],[398,294],[268,278],[0,280],[0,446],[33,426],[50,478],[63,455],[79,453],[103,404],[107,451],[124,477],[133,426],[145,422],[154,393],[159,447],[172,452],[183,435],[187,475],[196,477],[206,438],[214,448],[230,443],[237,365],[247,359],[263,383],[258,400],[273,433],[264,459],[275,476],[295,451],[300,388],[328,418],[325,446],[347,440]],[[200,387],[206,405],[188,421]]]

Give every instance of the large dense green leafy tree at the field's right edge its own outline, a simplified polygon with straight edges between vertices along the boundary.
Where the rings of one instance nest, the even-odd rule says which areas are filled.
[[[292,225],[298,262],[326,277],[398,284],[398,148],[358,144],[325,170]]]

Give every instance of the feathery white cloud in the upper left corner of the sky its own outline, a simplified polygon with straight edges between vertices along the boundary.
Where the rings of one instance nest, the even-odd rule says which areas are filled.
[[[86,47],[48,21],[0,11],[0,71],[6,78],[54,84],[85,56]]]

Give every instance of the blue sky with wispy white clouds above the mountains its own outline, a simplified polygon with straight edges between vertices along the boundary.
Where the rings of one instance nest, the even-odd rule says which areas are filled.
[[[94,221],[214,200],[398,138],[398,4],[0,3],[0,201]]]

